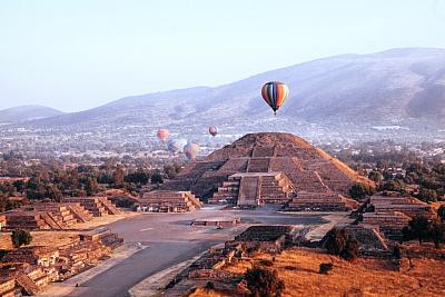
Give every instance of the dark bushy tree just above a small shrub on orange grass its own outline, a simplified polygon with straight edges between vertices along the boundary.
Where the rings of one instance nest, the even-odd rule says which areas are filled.
[[[322,241],[329,254],[337,255],[343,259],[354,260],[358,256],[358,241],[345,229],[330,229]]]

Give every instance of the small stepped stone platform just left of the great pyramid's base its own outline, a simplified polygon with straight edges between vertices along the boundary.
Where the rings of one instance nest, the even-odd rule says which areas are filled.
[[[201,207],[199,199],[190,191],[149,191],[144,194],[138,204],[139,211],[150,212],[185,212]]]

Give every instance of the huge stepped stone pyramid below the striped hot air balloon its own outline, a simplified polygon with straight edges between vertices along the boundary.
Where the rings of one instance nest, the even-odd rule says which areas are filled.
[[[357,207],[344,197],[357,181],[372,184],[301,138],[249,133],[191,162],[160,189],[191,191],[210,204],[335,211]]]

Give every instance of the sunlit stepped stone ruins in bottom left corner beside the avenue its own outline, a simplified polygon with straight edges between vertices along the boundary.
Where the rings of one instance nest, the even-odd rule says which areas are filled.
[[[98,228],[58,248],[26,246],[6,251],[0,263],[0,296],[39,294],[49,283],[69,278],[108,257],[122,242],[109,229]]]

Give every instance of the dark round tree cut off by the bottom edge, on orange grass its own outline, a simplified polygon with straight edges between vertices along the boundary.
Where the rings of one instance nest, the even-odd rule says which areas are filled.
[[[244,275],[247,288],[255,297],[280,297],[285,283],[276,270],[264,267],[254,267]]]

